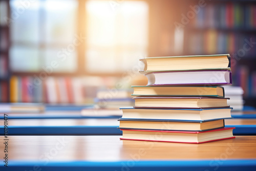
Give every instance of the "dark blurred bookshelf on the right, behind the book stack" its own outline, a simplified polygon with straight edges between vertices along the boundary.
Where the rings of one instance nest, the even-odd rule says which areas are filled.
[[[245,105],[255,107],[256,3],[207,1],[204,5],[184,27],[184,55],[229,53],[233,86],[241,86]],[[186,7],[185,11],[192,10]]]

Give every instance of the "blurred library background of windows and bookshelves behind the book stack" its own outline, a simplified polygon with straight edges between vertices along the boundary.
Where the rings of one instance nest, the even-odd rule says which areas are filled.
[[[139,59],[231,55],[256,106],[253,1],[0,0],[0,101],[93,103],[144,85]]]

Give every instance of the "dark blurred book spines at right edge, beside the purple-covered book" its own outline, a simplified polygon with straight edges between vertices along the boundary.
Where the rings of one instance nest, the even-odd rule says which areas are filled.
[[[256,97],[256,71],[250,73],[246,66],[239,67],[232,80],[234,86],[242,87],[244,97]]]

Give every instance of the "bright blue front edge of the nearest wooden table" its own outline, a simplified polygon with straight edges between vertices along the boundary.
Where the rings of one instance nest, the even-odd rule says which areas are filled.
[[[1,163],[4,163],[1,161]],[[4,164],[0,165],[1,170],[4,168]],[[117,161],[117,162],[93,162],[93,161],[63,161],[63,162],[37,162],[37,161],[9,161],[9,171],[24,171],[24,170],[48,170],[48,171],[84,171],[84,170],[161,170],[161,171],[187,171],[187,170],[256,170],[256,160],[171,160],[171,161],[141,161],[138,158]]]

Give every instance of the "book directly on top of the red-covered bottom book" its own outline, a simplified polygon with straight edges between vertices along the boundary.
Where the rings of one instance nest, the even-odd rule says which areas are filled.
[[[183,120],[147,120],[147,119],[118,119],[119,129],[170,130],[170,131],[208,131],[224,127],[224,119],[209,121]]]

